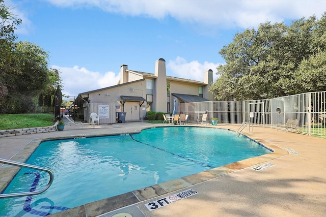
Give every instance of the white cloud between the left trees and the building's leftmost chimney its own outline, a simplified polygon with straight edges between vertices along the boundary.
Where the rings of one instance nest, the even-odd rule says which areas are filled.
[[[95,89],[100,89],[108,86],[117,85],[120,79],[120,74],[116,75],[114,72],[92,72],[82,67],[74,66],[60,67],[51,66],[53,69],[58,69],[63,81],[62,93],[66,96],[76,97],[82,92],[87,92]]]

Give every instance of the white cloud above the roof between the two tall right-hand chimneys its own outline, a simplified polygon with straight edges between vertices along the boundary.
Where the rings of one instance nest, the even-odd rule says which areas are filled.
[[[193,79],[197,81],[204,81],[204,72],[211,69],[213,70],[213,81],[216,80],[216,68],[220,64],[208,63],[205,61],[203,64],[197,60],[188,62],[182,57],[177,57],[175,60],[169,60],[167,69],[170,70],[175,77]]]

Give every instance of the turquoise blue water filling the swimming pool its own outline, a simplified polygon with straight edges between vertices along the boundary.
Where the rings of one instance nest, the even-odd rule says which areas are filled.
[[[42,142],[28,164],[51,169],[41,195],[0,199],[0,216],[44,216],[271,151],[232,131],[172,127]],[[38,178],[39,177],[39,178]],[[41,190],[45,172],[22,168],[5,193]]]

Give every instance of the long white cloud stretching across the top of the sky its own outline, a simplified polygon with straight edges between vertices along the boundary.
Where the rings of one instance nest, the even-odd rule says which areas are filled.
[[[248,28],[260,23],[281,22],[316,15],[326,8],[323,0],[45,0],[58,7],[98,7],[104,11],[163,19],[171,16],[180,22],[208,27]]]

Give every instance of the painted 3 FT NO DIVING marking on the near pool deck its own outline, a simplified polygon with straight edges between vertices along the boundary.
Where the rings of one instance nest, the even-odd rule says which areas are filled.
[[[150,203],[146,203],[145,206],[147,207],[147,209],[149,211],[153,211],[155,209],[164,207],[166,205],[177,202],[177,201],[182,200],[184,198],[194,196],[196,194],[198,194],[198,192],[196,192],[194,189],[188,189],[186,191],[183,191],[183,192],[180,192],[180,193],[177,193],[177,194],[174,194],[174,195],[170,195],[168,197],[165,197],[165,198],[162,198],[162,199],[159,199],[159,200],[155,200],[155,201],[152,201]]]

